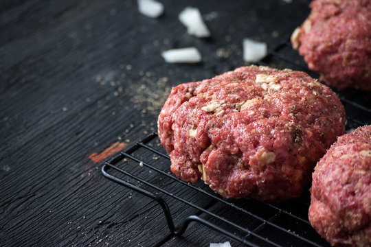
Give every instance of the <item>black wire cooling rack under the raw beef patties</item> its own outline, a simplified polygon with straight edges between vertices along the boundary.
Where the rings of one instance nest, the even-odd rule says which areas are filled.
[[[318,78],[317,73],[309,71],[302,58],[293,51],[289,41],[269,50],[257,64],[306,71]],[[333,90],[346,108],[347,132],[371,124],[370,93]],[[170,158],[161,147],[156,132],[106,162],[102,173],[109,180],[157,202],[164,211],[172,235],[182,235],[191,222],[196,222],[246,246],[330,246],[308,222],[308,189],[300,198],[280,204],[251,198],[221,198],[202,182],[192,185],[170,173]],[[173,201],[188,209],[180,220],[170,210],[169,204]]]

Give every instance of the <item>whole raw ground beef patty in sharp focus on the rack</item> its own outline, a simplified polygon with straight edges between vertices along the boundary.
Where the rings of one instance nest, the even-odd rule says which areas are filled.
[[[226,198],[300,195],[344,133],[344,107],[306,73],[240,67],[172,89],[158,120],[171,170]]]

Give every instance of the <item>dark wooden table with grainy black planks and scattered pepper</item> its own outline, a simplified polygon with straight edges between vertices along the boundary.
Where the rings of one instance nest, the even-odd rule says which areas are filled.
[[[246,64],[243,38],[272,49],[282,43],[306,18],[308,1],[162,2],[159,19],[139,14],[136,1],[1,2],[0,246],[227,240],[195,224],[171,235],[159,207],[104,178],[107,158],[93,153],[112,143],[129,147],[156,130],[172,86]],[[179,23],[188,5],[201,10],[210,38],[190,36]],[[201,63],[161,58],[189,46],[201,51]],[[172,211],[188,209],[175,203]]]

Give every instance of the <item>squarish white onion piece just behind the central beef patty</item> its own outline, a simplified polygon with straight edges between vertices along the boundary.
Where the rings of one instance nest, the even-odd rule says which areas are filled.
[[[249,38],[243,39],[243,60],[257,62],[267,56],[267,43],[257,42]]]

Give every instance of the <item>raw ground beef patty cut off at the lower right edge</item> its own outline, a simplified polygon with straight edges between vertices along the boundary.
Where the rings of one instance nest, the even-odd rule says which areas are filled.
[[[371,126],[339,137],[313,173],[309,220],[333,246],[371,246]]]

